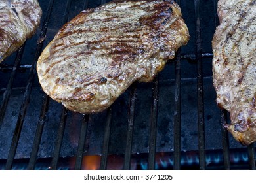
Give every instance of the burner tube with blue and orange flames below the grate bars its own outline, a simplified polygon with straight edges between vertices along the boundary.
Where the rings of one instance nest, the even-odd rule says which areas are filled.
[[[100,168],[101,156],[83,156],[81,168],[85,170],[96,170]],[[66,157],[60,158],[58,162],[58,169],[73,170],[75,169],[75,158]],[[12,169],[28,169],[28,162],[30,159],[15,159]],[[52,158],[39,158],[35,169],[47,170],[51,167]],[[123,155],[108,156],[107,169],[119,170],[124,167],[125,158]],[[5,169],[6,161],[0,161],[0,169]],[[224,169],[223,166],[223,152],[221,150],[207,151],[205,163],[207,169]],[[199,166],[198,152],[182,152],[181,153],[181,167],[182,169],[198,169]],[[232,169],[249,169],[249,158],[246,151],[235,152],[230,150],[230,166]],[[148,169],[148,154],[133,154],[131,157],[132,170],[146,170]],[[156,153],[156,165],[154,169],[173,169],[173,153],[159,152]]]

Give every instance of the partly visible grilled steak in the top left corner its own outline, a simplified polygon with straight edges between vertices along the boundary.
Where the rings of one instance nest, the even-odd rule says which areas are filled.
[[[0,62],[32,37],[41,14],[37,0],[0,1]]]

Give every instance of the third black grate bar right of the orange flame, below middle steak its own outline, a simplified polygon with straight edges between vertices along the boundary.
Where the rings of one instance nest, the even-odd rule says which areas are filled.
[[[149,138],[149,154],[148,154],[148,169],[155,169],[156,155],[156,126],[158,122],[158,76],[153,82],[153,103],[150,118],[150,138]]]

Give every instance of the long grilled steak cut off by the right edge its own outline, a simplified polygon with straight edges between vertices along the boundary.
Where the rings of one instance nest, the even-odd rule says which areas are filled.
[[[242,144],[256,141],[255,0],[220,0],[213,37],[217,104],[230,112],[228,131]]]

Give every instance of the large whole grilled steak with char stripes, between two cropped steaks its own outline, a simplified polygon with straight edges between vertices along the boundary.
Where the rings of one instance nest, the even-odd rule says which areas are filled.
[[[150,82],[188,39],[174,1],[112,1],[60,29],[37,62],[39,82],[70,110],[100,112],[136,80]]]

